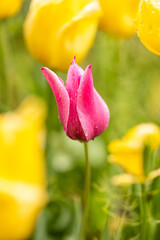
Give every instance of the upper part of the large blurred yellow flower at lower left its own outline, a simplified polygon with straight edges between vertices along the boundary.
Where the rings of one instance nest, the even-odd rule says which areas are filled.
[[[26,101],[30,106],[0,115],[0,177],[44,185],[44,103]]]

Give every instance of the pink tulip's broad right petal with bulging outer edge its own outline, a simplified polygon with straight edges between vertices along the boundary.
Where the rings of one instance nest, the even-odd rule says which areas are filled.
[[[77,112],[87,141],[100,135],[108,126],[109,110],[94,89],[91,65],[86,68],[80,82]]]

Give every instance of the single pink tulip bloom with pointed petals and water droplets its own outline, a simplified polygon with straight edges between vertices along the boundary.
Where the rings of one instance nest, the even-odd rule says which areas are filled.
[[[93,86],[91,65],[83,71],[74,58],[66,86],[48,68],[41,70],[53,91],[59,118],[68,137],[88,142],[104,132],[109,123],[109,110]]]

